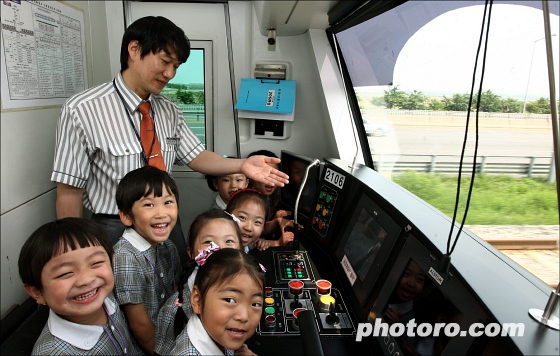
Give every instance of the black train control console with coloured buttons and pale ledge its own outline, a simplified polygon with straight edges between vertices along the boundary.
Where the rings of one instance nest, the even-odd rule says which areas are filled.
[[[247,342],[253,352],[404,355],[420,354],[434,341],[442,354],[558,354],[557,332],[537,325],[528,313],[545,304],[549,287],[504,263],[476,235],[463,231],[449,268],[442,269],[447,216],[368,167],[324,158],[320,169],[312,168],[315,160],[285,151],[282,161],[290,163],[285,172],[300,174],[290,181],[301,182],[291,194],[283,193],[282,208],[297,210],[303,229],[295,233],[293,246],[250,251],[267,269],[263,313]],[[302,179],[301,167],[316,170],[309,175],[312,184]],[[425,278],[411,304],[403,300],[410,293],[399,292],[410,271]],[[527,298],[516,299],[523,308],[496,304],[503,297],[495,294],[496,284],[512,294],[526,290]],[[433,340],[371,335],[357,341],[364,324],[384,323],[389,329],[388,310],[406,303],[419,323],[443,315],[465,331],[473,323],[515,322],[524,325],[525,333],[542,337],[538,344],[532,338],[462,334]],[[313,351],[306,346],[309,340],[315,340]]]

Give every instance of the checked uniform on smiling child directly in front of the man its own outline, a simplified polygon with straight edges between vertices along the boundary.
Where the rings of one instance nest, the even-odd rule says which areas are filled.
[[[113,273],[118,303],[144,303],[155,324],[160,308],[174,293],[181,276],[177,248],[169,240],[154,248],[132,228],[125,230],[114,248]]]

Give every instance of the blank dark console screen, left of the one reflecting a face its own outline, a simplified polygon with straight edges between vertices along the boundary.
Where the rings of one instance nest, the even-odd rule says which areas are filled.
[[[366,278],[386,236],[387,231],[362,208],[344,246],[344,253],[361,281]]]

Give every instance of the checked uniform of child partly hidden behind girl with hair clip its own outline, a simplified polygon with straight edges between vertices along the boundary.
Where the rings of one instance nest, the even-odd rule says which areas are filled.
[[[183,312],[189,320],[194,312],[191,305],[191,291],[194,285],[194,278],[196,277],[196,270],[191,273],[187,283],[183,288]],[[159,310],[158,321],[156,323],[156,337],[154,351],[158,355],[169,355],[175,346],[175,316],[177,315],[178,306],[175,301],[179,297],[179,292],[175,292]],[[177,335],[178,336],[178,335]]]

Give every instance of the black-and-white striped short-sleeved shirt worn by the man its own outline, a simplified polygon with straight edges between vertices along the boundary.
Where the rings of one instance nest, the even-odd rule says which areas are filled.
[[[147,101],[151,103],[165,166],[171,173],[174,163],[189,164],[204,145],[175,103],[154,94]],[[114,81],[79,93],[62,106],[51,180],[85,189],[83,204],[93,213],[118,214],[115,193],[119,181],[144,165],[142,145],[136,136],[141,103],[119,74]]]

